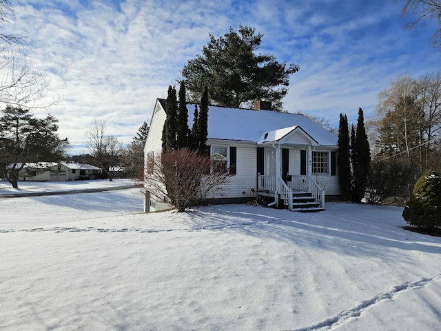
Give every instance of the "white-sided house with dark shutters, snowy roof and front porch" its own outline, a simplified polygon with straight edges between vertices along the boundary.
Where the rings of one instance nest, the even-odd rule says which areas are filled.
[[[191,103],[187,108],[191,128],[194,108]],[[266,197],[269,205],[290,210],[322,210],[325,196],[340,196],[336,134],[301,114],[271,111],[269,101],[257,101],[254,108],[209,106],[207,146],[214,160],[233,169],[224,195],[209,199],[240,203]],[[165,118],[165,100],[157,99],[145,143],[146,164],[161,153]],[[165,197],[145,195],[146,211],[170,208]]]

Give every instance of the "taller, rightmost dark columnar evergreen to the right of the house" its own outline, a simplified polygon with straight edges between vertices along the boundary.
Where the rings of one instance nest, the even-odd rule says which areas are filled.
[[[358,109],[356,130],[356,163],[353,163],[353,194],[354,200],[360,202],[365,197],[367,179],[371,166],[371,150],[365,129],[363,110]]]

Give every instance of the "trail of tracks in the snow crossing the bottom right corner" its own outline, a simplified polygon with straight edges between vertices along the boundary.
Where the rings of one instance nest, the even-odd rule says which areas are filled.
[[[293,331],[316,331],[316,330],[331,330],[334,326],[338,326],[342,323],[349,322],[351,319],[356,319],[360,317],[360,315],[371,308],[373,305],[377,305],[382,303],[382,301],[393,300],[398,294],[412,290],[415,288],[424,288],[425,286],[441,281],[441,273],[435,274],[435,276],[430,278],[422,278],[419,281],[414,281],[413,283],[403,283],[402,285],[397,285],[393,288],[393,290],[389,292],[384,292],[376,295],[372,299],[362,301],[358,303],[355,307],[340,312],[336,317],[332,317],[331,319],[326,319],[325,321],[319,322],[315,325],[311,325],[307,328],[295,329]]]

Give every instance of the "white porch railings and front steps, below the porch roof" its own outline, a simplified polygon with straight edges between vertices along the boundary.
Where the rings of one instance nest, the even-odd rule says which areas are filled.
[[[320,212],[325,210],[325,190],[308,175],[287,174],[287,182],[274,175],[258,174],[258,197],[271,197],[276,205],[295,212]]]

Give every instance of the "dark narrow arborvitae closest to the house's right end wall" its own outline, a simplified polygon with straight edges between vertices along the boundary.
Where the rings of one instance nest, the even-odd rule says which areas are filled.
[[[352,174],[350,163],[349,126],[347,116],[340,114],[338,126],[338,183],[343,194],[343,199],[351,200]]]

